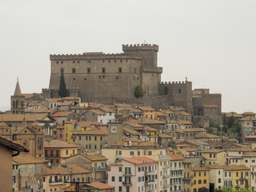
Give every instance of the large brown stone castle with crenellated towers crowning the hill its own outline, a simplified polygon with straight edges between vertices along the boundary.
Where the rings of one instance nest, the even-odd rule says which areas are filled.
[[[198,101],[197,95],[197,104],[194,104],[192,82],[161,82],[162,67],[158,67],[157,45],[122,45],[122,50],[122,54],[51,54],[50,86],[42,89],[44,98],[59,97],[59,82],[63,74],[70,96],[80,97],[82,102],[126,102],[150,104],[155,108],[174,105],[187,110],[214,104],[221,111],[220,94],[208,93],[210,99],[204,99],[206,102]],[[134,96],[138,85],[142,85],[143,98]]]

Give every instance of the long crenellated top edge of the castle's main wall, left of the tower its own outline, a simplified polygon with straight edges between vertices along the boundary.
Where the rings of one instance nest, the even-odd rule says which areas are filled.
[[[131,56],[130,54],[104,54],[103,52],[87,52],[83,54],[50,54],[50,60],[70,60],[70,59],[141,59],[140,56]]]

